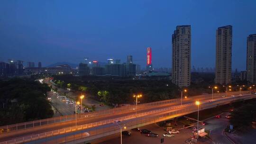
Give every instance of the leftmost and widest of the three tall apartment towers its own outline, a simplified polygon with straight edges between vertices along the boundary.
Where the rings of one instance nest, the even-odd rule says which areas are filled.
[[[182,87],[191,81],[191,26],[177,26],[172,36],[172,82]]]

